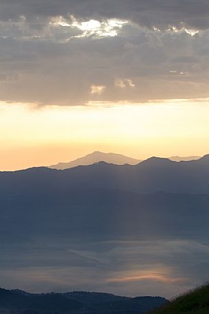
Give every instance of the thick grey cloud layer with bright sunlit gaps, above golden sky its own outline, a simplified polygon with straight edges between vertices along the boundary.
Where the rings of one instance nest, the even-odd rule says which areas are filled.
[[[208,98],[208,6],[3,0],[0,100],[74,106],[93,96],[112,103]]]

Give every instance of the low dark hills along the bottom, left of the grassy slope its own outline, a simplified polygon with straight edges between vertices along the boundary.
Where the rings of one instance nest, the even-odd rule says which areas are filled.
[[[1,314],[141,314],[166,303],[160,297],[127,298],[88,292],[32,294],[0,289]]]

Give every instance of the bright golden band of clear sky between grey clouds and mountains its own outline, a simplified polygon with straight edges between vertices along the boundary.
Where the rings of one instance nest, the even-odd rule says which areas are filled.
[[[0,170],[70,161],[101,150],[138,159],[209,153],[207,100],[88,106],[0,105]]]

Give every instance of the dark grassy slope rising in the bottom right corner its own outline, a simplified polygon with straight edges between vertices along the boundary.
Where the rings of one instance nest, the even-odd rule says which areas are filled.
[[[209,285],[181,295],[173,302],[149,314],[208,314]]]

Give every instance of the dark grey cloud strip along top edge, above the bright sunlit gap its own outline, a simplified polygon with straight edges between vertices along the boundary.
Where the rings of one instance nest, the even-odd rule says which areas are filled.
[[[148,27],[164,28],[181,22],[198,29],[209,26],[207,0],[1,0],[0,12],[4,20],[71,13],[84,19],[128,19]]]

